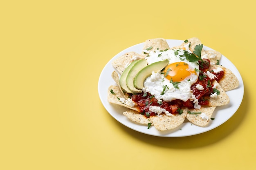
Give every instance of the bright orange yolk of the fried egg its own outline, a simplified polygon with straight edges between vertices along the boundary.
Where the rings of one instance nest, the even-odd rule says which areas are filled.
[[[190,76],[191,73],[196,74],[195,70],[189,69],[189,65],[185,62],[175,62],[165,67],[164,77],[172,80],[173,82],[181,82],[186,77]]]

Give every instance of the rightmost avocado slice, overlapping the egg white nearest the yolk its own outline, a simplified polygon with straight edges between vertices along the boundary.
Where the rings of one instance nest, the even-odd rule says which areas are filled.
[[[155,73],[161,71],[167,64],[169,63],[169,60],[164,61],[158,61],[154,62],[152,64],[147,65],[146,67],[142,68],[137,75],[135,76],[133,83],[135,88],[141,90],[144,88],[144,81],[145,79],[151,75],[151,73],[154,71]]]

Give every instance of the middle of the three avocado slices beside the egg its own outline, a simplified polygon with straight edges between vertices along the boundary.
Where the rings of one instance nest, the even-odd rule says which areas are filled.
[[[132,68],[130,68],[130,71],[128,72],[128,75],[126,77],[126,85],[129,88],[130,91],[132,91],[132,93],[141,93],[141,90],[138,90],[137,88],[135,88],[134,86],[134,77],[135,75],[137,75],[137,73],[144,67],[146,67],[148,64],[146,59],[141,59],[138,60],[133,66]]]

